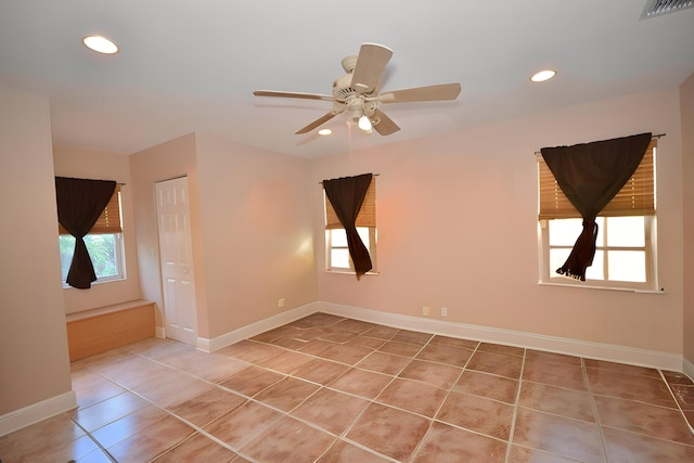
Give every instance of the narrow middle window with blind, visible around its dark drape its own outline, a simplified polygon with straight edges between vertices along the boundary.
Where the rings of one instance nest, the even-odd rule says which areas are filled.
[[[323,192],[325,205],[325,269],[329,271],[354,271],[354,265],[347,248],[347,233],[339,222],[330,200]],[[369,249],[372,269],[368,273],[377,273],[376,267],[376,180],[369,184],[367,196],[357,216],[357,232]]]

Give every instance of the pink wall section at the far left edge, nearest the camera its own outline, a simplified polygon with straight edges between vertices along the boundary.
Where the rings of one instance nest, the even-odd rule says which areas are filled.
[[[72,400],[57,399],[72,387],[47,97],[0,85],[0,153],[2,435],[8,422],[16,425],[13,419],[30,415],[13,413],[25,407],[41,403],[33,409],[36,420],[76,403],[74,394]]]

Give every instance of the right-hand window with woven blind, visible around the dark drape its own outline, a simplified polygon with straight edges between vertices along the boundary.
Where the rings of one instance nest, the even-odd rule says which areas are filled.
[[[597,217],[595,257],[586,271],[586,282],[555,273],[580,234],[582,219],[558,188],[542,157],[538,156],[541,282],[657,290],[655,151],[654,139],[631,179]]]

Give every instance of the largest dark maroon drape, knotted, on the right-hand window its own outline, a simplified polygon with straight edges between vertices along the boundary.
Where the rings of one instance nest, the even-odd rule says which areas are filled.
[[[541,150],[560,188],[583,217],[583,231],[557,273],[586,281],[586,269],[595,256],[595,217],[637,170],[651,138],[641,133]]]

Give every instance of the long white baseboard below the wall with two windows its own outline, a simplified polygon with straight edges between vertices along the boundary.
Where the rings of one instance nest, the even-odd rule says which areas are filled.
[[[640,366],[651,366],[659,370],[681,372],[683,365],[683,357],[672,352],[545,336],[536,333],[457,323],[424,317],[387,313],[323,301],[319,303],[319,309],[324,313],[348,317],[372,323],[382,323],[403,330],[422,331],[451,337],[504,344]],[[689,366],[694,371],[694,365],[690,363]],[[690,374],[690,376],[692,375]]]

